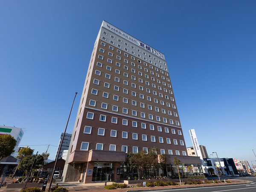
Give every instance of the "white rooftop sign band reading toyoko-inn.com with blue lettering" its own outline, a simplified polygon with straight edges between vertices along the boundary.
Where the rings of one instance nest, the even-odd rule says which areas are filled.
[[[158,57],[165,59],[163,53],[153,49],[152,47],[149,47],[148,45],[144,44],[143,42],[137,40],[136,38],[133,38],[131,35],[128,35],[127,33],[123,32],[120,29],[117,29],[115,26],[111,25],[110,23],[103,20],[102,26],[104,26],[107,29],[110,29],[112,32],[126,38],[128,41],[131,41],[132,43],[142,47],[145,50],[148,50],[149,52],[153,53],[154,55],[157,55]]]

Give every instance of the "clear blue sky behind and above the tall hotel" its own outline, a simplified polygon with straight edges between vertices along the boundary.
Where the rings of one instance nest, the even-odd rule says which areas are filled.
[[[194,128],[209,154],[256,160],[255,10],[253,0],[0,0],[0,124],[55,157],[104,19],[165,54],[188,147]]]

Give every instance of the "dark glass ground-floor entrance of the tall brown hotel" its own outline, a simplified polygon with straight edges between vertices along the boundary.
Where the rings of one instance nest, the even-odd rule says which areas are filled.
[[[112,181],[113,163],[94,162],[92,181]]]

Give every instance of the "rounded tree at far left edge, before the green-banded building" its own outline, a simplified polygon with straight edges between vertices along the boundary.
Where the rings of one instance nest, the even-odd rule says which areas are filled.
[[[0,135],[0,161],[14,152],[17,141],[10,134]]]

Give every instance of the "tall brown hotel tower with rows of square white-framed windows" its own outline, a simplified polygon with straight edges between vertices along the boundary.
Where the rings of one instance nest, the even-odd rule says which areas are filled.
[[[199,157],[186,154],[170,76],[163,53],[103,21],[63,180],[123,180],[127,154],[153,147],[166,154],[168,175],[173,174],[174,157],[185,172],[201,172]]]

